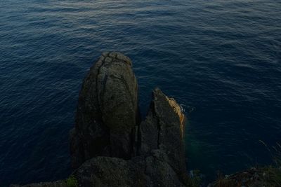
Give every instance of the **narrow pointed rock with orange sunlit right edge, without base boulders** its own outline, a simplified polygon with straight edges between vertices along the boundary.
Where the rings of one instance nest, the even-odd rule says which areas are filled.
[[[185,172],[184,125],[185,116],[181,107],[156,88],[152,92],[148,116],[140,125],[139,152],[150,155],[152,150],[160,149],[166,153],[169,165],[177,173]]]

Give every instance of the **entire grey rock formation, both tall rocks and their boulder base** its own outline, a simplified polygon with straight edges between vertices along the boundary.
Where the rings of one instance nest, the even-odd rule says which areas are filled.
[[[131,60],[103,53],[84,79],[70,132],[79,186],[187,186],[180,106],[156,88],[148,115],[139,118]]]

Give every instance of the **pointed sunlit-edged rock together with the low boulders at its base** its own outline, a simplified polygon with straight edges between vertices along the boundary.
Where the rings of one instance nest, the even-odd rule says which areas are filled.
[[[174,99],[156,88],[138,130],[137,156],[96,157],[74,173],[81,186],[185,186],[185,116]]]

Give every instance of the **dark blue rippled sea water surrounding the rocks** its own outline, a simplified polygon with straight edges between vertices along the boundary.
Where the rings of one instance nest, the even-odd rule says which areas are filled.
[[[281,141],[281,1],[0,1],[0,186],[70,174],[68,131],[101,52],[129,55],[145,113],[159,86],[188,113],[188,169],[270,163]]]

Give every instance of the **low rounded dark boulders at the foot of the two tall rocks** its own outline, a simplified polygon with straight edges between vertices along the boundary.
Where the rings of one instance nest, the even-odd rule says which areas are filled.
[[[131,160],[97,157],[75,172],[80,186],[184,186],[166,155],[157,150],[148,157]]]

